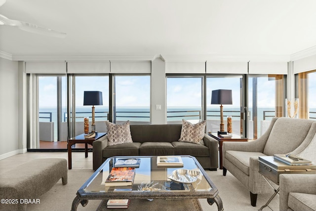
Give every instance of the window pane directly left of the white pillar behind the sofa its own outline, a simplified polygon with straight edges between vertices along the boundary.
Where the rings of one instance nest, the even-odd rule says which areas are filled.
[[[150,123],[150,76],[114,76],[114,122]]]

